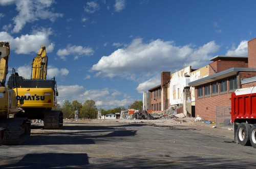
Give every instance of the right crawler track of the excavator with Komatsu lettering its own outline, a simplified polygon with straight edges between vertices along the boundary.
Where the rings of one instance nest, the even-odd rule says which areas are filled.
[[[50,111],[44,114],[44,129],[59,129],[63,126],[63,113],[61,111]]]

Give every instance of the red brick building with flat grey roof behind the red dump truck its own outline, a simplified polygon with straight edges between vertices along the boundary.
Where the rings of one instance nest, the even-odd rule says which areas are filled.
[[[216,56],[210,60],[209,76],[188,85],[195,87],[196,116],[215,120],[216,106],[231,106],[232,92],[255,84],[245,79],[256,76],[256,38],[248,41],[248,57]]]

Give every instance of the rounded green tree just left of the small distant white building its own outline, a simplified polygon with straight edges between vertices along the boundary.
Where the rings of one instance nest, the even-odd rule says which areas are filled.
[[[82,104],[80,117],[97,118],[98,109],[93,100],[87,100]]]

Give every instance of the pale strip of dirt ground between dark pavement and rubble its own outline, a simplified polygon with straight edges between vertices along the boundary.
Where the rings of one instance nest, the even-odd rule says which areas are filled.
[[[184,118],[166,118],[166,119],[78,119],[76,122],[74,119],[65,119],[64,124],[68,122],[74,123],[91,123],[95,125],[110,125],[116,123],[123,124],[145,124],[153,125],[156,127],[167,127],[167,128],[178,128],[178,129],[194,129],[201,133],[206,133],[210,135],[218,135],[222,137],[229,138],[233,140],[234,131],[232,126],[230,127],[215,127],[215,124],[207,124],[202,121],[195,122],[193,117],[184,117]]]

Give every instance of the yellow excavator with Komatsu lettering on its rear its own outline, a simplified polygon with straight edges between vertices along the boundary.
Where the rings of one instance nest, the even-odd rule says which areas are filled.
[[[61,111],[52,110],[57,106],[58,91],[55,78],[46,79],[47,64],[46,46],[41,45],[32,62],[31,79],[18,76],[13,69],[8,86],[14,89],[18,101],[24,101],[24,104],[18,105],[24,111],[19,111],[15,117],[41,119],[44,129],[59,129],[63,125],[63,114]]]

